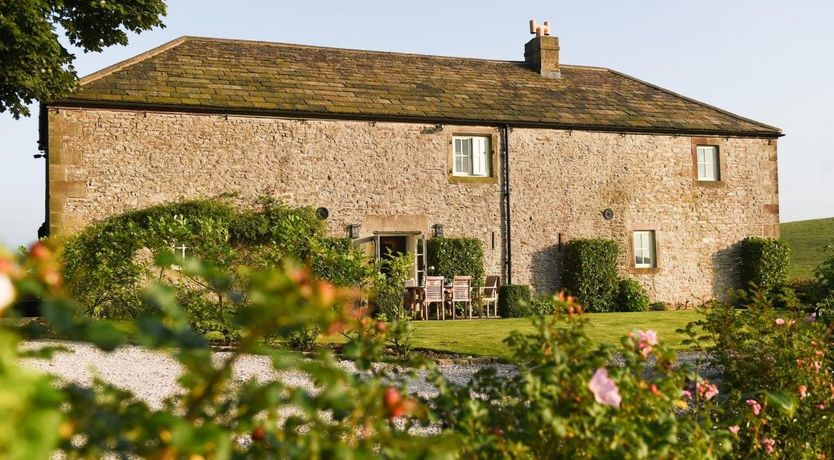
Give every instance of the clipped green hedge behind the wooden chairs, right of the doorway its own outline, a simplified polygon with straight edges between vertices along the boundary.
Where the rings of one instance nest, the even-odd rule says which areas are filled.
[[[429,274],[451,280],[471,276],[473,286],[484,282],[484,245],[478,238],[432,238],[426,242]]]

